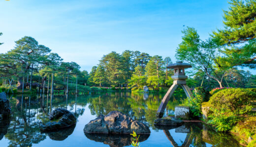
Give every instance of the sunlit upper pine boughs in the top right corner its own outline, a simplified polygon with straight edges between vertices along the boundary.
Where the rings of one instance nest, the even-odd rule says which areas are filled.
[[[256,1],[231,0],[228,11],[224,11],[224,29],[213,32],[224,43],[243,43],[255,38]]]

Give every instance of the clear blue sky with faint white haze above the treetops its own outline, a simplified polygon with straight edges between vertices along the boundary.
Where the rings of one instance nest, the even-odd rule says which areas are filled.
[[[81,70],[126,49],[175,62],[183,25],[207,39],[227,9],[227,0],[0,0],[0,52],[32,36]]]

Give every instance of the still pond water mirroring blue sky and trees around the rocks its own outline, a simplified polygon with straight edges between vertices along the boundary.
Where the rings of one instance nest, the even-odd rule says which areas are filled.
[[[177,128],[154,126],[156,112],[164,94],[98,93],[85,96],[8,96],[12,107],[10,120],[0,123],[1,147],[123,147],[130,135],[85,134],[85,124],[99,114],[121,111],[150,126],[151,134],[141,136],[140,147],[240,147],[231,134],[219,133],[202,123],[185,123]],[[174,107],[185,94],[170,98],[164,115],[173,115]],[[58,132],[40,132],[51,110],[66,108],[77,117],[75,126]]]

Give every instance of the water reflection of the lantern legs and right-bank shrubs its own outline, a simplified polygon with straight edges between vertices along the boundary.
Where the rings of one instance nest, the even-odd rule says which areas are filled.
[[[211,144],[214,147],[240,147],[239,142],[234,139],[234,136],[221,132],[216,132],[208,125],[203,123],[184,123],[183,125],[172,128],[175,133],[170,133],[170,128],[161,127],[166,138],[170,141],[173,147],[206,147]],[[185,133],[186,138],[181,145],[173,139],[174,135]]]

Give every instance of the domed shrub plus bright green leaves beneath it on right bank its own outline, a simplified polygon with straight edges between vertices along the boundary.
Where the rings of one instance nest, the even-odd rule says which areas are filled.
[[[211,113],[208,123],[213,124],[218,131],[229,131],[242,115],[252,110],[251,101],[256,99],[256,93],[250,89],[229,88],[215,93],[209,100]]]

